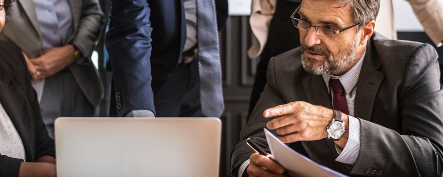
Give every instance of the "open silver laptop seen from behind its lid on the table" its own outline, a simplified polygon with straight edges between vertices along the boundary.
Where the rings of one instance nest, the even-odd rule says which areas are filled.
[[[217,177],[218,118],[55,120],[59,177]]]

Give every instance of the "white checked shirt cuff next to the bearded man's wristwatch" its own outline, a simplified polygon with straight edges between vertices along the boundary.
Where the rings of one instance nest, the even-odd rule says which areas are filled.
[[[342,163],[347,163],[353,165],[355,161],[357,161],[357,157],[360,151],[360,121],[348,115],[349,117],[349,138],[348,142],[345,145],[345,148],[340,152],[340,148],[337,148],[337,144],[335,144],[335,149],[337,153],[340,154],[335,161],[339,161]]]

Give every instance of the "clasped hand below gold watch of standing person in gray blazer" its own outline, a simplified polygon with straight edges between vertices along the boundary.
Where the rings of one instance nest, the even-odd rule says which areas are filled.
[[[69,64],[74,63],[76,59],[74,53],[75,48],[70,44],[43,50],[42,56],[31,60],[37,71],[39,71],[38,79],[52,76]]]

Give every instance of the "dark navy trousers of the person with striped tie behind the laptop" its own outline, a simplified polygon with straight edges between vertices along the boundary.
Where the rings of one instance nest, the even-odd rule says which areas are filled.
[[[154,93],[157,117],[204,117],[198,80],[196,59],[190,64],[179,64],[160,91]],[[110,116],[118,116],[114,92],[112,83]]]

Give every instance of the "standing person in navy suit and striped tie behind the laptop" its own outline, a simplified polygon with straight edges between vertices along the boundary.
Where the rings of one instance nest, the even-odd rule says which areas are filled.
[[[217,3],[221,15],[217,18],[223,21],[219,26],[227,15],[227,3],[221,2]],[[214,4],[213,0],[112,0],[105,40],[115,88],[111,116],[116,110],[119,116],[220,117],[222,78]],[[211,79],[203,79],[207,76]]]

